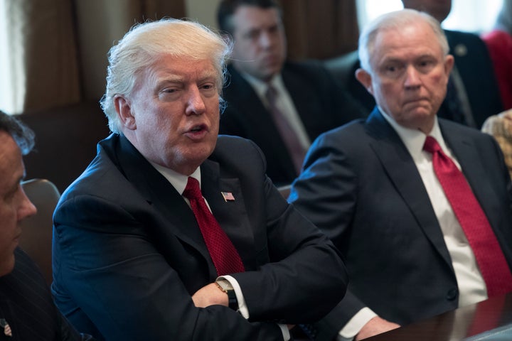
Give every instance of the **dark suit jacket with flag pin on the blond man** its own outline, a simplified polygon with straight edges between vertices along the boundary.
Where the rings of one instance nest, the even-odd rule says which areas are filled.
[[[124,136],[112,135],[54,215],[52,289],[77,328],[100,340],[282,340],[275,322],[320,318],[341,299],[338,251],[274,188],[255,144],[220,136],[201,165],[201,188],[245,266],[233,277],[250,320],[193,305],[191,295],[216,278],[193,212]]]

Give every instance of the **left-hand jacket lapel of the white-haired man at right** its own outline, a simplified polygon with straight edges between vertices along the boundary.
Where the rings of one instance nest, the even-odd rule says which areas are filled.
[[[368,117],[366,129],[368,134],[373,136],[370,146],[383,164],[388,178],[410,208],[410,212],[434,249],[452,268],[452,261],[444,242],[441,227],[434,209],[430,205],[430,197],[409,151],[378,109],[374,109]]]

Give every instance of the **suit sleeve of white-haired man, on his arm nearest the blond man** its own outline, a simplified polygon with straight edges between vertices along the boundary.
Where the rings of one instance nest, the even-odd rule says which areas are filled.
[[[357,187],[362,180],[351,157],[343,152],[336,134],[323,134],[311,146],[304,171],[289,195],[297,210],[314,222],[343,254],[357,209]],[[319,340],[334,340],[353,315],[366,305],[350,287],[346,296],[317,323]],[[370,307],[371,308],[371,307]]]

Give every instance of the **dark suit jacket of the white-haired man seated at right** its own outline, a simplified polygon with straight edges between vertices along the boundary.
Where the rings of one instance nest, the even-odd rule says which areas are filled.
[[[512,264],[512,188],[496,141],[439,119],[447,145]],[[420,173],[377,109],[311,146],[289,201],[346,259],[346,297],[321,326],[331,336],[361,308],[399,324],[457,308],[457,279]]]

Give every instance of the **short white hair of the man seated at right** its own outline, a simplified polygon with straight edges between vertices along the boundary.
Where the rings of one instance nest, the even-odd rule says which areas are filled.
[[[449,45],[439,21],[425,12],[416,11],[414,9],[402,9],[379,16],[363,29],[361,36],[359,36],[358,48],[361,67],[366,70],[366,72],[372,73],[370,55],[375,53],[375,38],[380,31],[399,30],[405,26],[417,23],[418,21],[424,21],[429,24],[432,31],[434,31],[434,34],[437,36],[437,40],[439,41],[439,45],[441,45],[444,55],[447,55],[449,53]]]

